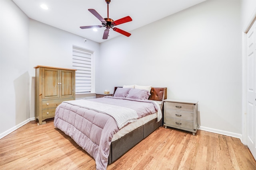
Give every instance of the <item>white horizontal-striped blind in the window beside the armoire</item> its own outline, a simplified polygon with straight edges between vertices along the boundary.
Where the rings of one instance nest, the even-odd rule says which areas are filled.
[[[92,53],[73,47],[73,68],[76,69],[76,94],[92,90]]]

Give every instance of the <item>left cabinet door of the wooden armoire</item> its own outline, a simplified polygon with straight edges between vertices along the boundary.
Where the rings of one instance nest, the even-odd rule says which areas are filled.
[[[42,99],[59,98],[59,70],[54,68],[42,69]]]

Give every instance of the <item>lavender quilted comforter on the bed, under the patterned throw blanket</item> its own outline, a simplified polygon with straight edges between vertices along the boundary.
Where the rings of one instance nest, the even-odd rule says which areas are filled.
[[[138,117],[156,113],[158,107],[148,100],[104,97],[91,99],[96,102],[134,109]],[[119,131],[110,115],[63,102],[56,108],[54,126],[70,136],[90,154],[97,170],[106,170],[109,148],[113,135]]]

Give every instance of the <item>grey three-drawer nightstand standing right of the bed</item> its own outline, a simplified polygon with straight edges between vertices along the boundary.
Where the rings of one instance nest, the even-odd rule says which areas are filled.
[[[197,123],[198,101],[164,100],[164,125],[190,131],[195,135]]]

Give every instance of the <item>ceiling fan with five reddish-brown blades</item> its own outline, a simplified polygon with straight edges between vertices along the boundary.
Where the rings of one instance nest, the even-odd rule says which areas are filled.
[[[105,1],[107,4],[110,4],[111,0],[105,0]],[[124,18],[114,21],[111,18],[102,18],[102,16],[100,16],[100,14],[98,14],[98,12],[96,12],[96,10],[94,10],[94,9],[88,9],[88,10],[102,22],[102,25],[82,26],[82,27],[80,27],[81,29],[106,27],[106,29],[103,33],[102,39],[108,39],[108,33],[109,33],[110,28],[112,28],[114,31],[116,31],[122,35],[125,35],[127,37],[129,37],[131,35],[130,33],[126,32],[122,29],[114,27],[116,25],[120,25],[122,23],[132,21],[132,18],[130,18],[130,16],[126,16]]]

